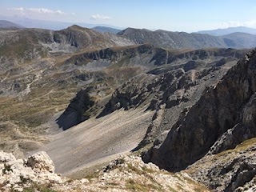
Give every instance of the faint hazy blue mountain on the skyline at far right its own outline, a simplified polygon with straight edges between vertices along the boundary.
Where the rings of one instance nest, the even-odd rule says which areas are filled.
[[[226,29],[218,29],[218,30],[200,30],[196,33],[222,36],[222,35],[233,34],[237,32],[246,33],[246,34],[256,34],[256,29],[246,27],[246,26],[236,26],[236,27],[229,27]]]

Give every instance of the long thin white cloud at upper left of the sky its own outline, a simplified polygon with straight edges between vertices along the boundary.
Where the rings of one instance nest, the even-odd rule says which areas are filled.
[[[8,8],[7,10],[15,12],[15,14],[64,14],[61,10],[49,10],[46,8]]]

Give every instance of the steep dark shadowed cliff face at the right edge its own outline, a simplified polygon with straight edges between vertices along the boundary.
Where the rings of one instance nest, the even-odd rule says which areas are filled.
[[[184,111],[164,142],[155,142],[144,160],[182,170],[205,154],[233,149],[256,136],[256,51],[231,68],[216,86]]]

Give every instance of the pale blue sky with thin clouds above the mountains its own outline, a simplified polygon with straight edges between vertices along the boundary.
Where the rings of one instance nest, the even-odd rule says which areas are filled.
[[[256,28],[256,1],[0,0],[0,15],[122,28],[195,32],[230,26]]]

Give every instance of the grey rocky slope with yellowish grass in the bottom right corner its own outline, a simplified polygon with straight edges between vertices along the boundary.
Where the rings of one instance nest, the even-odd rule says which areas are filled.
[[[214,191],[255,191],[255,150],[256,139],[251,138],[234,150],[206,155],[186,172]]]

